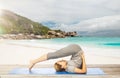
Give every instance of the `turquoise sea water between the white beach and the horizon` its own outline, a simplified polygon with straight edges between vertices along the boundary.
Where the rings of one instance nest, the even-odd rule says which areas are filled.
[[[24,43],[40,44],[79,44],[97,47],[117,47],[120,48],[120,37],[67,37],[41,40],[21,40]]]

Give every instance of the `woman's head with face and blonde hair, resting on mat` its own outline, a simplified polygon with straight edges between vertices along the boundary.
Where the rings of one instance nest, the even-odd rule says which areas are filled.
[[[56,71],[65,71],[66,64],[67,64],[66,60],[60,60],[54,64],[54,68]]]

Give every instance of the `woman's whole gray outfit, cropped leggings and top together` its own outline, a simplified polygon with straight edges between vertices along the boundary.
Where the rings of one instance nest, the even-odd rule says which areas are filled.
[[[65,69],[65,71],[74,73],[75,67],[81,68],[81,64],[82,64],[81,53],[82,52],[83,51],[79,45],[71,44],[55,52],[48,53],[47,60],[71,55],[71,59],[67,61],[67,68]]]

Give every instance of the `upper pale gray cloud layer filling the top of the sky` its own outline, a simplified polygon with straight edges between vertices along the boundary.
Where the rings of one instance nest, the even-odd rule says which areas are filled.
[[[0,5],[32,20],[70,24],[120,14],[119,0],[0,0]]]

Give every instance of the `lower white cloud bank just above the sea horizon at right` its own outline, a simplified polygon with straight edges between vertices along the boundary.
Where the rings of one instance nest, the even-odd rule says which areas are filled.
[[[120,15],[89,19],[73,25],[61,24],[61,26],[56,26],[53,29],[77,31],[82,32],[84,35],[104,34],[106,32],[120,36]]]

